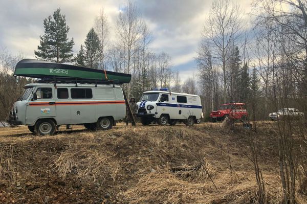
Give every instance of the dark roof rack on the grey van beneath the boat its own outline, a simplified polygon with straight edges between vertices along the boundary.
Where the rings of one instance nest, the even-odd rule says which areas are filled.
[[[78,86],[78,83],[85,83],[85,84],[122,84],[119,83],[118,80],[104,80],[104,79],[91,79],[91,78],[71,78],[71,77],[44,77],[38,81],[38,83],[75,83]]]

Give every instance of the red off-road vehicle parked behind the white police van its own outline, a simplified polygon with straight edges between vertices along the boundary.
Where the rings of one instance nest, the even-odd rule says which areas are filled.
[[[210,119],[212,122],[222,121],[226,117],[246,121],[248,114],[245,103],[224,103],[218,110],[210,112]]]

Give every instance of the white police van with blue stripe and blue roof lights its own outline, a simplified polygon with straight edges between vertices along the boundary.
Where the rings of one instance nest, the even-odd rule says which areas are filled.
[[[143,125],[156,121],[160,125],[184,122],[191,126],[202,117],[199,96],[169,92],[167,88],[144,92],[137,105],[137,116]]]

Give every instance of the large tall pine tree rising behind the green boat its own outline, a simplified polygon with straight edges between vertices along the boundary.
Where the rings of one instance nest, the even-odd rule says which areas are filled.
[[[67,34],[69,27],[66,25],[65,15],[60,14],[58,8],[51,16],[43,20],[45,34],[40,37],[40,46],[34,51],[36,58],[58,63],[70,62],[73,57],[74,39],[69,40]]]

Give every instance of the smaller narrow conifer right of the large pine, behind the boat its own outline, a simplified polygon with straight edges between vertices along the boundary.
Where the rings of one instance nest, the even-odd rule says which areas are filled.
[[[91,28],[89,33],[86,35],[85,39],[85,50],[84,50],[84,60],[85,66],[91,67],[94,69],[98,69],[99,60],[100,60],[100,53],[101,53],[101,46],[100,46],[100,39],[95,32],[94,28]]]

